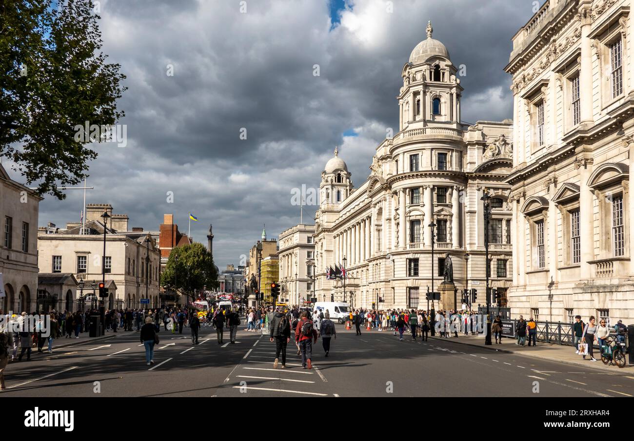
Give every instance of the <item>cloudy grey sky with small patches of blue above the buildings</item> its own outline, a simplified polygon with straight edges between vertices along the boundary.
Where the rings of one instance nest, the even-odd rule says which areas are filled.
[[[262,224],[277,238],[299,222],[292,189],[318,188],[335,145],[354,184],[365,181],[386,129],[398,131],[401,69],[427,20],[467,67],[465,122],[512,117],[503,67],[536,2],[391,3],[101,0],[103,49],[127,75],[127,146],[98,145],[87,203],[110,203],[145,229],[173,213],[186,232],[191,212],[195,240],[214,226],[216,264],[240,264]],[[82,196],[48,196],[39,224],[79,221]],[[305,207],[304,222],[315,210]]]

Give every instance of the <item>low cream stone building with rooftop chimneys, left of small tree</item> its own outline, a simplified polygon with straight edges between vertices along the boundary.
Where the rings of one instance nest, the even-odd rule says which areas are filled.
[[[77,223],[69,223],[67,229],[40,227],[37,235],[40,271],[70,272],[80,283],[84,281],[84,294],[91,292],[91,282],[101,281],[103,219],[100,216],[104,212],[111,216],[106,231],[105,278],[110,293],[106,308],[160,307],[159,247],[150,232],[137,227],[129,231],[127,215],[113,215],[110,204],[87,205],[84,231],[82,224]],[[150,303],[141,304],[142,298],[149,298]]]

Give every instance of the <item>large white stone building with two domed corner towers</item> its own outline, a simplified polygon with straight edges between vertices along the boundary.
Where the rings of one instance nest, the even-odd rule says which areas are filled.
[[[460,122],[463,88],[444,45],[427,39],[401,70],[399,127],[368,158],[370,176],[354,188],[347,165],[335,150],[321,174],[315,215],[318,301],[347,300],[354,307],[426,307],[425,292],[442,281],[451,257],[456,288],[477,289],[485,303],[482,192],[493,196],[491,286],[502,303],[511,282],[512,245],[508,205],[512,167],[512,121]],[[436,224],[432,262],[432,230]],[[349,278],[327,280],[325,269],[344,264]],[[432,265],[433,264],[433,265]],[[379,302],[382,300],[382,302]],[[378,302],[378,303],[377,303]],[[451,303],[451,304],[450,304]],[[436,304],[436,307],[438,305]]]

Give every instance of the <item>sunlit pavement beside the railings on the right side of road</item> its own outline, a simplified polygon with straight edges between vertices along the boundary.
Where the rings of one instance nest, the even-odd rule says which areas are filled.
[[[600,352],[596,347],[594,348],[594,356],[597,361],[591,361],[590,357],[583,359],[581,355],[575,353],[575,348],[573,346],[567,345],[537,342],[537,345],[534,347],[520,346],[516,345],[515,340],[510,338],[503,338],[501,344],[496,344],[495,338],[492,338],[493,344],[487,346],[484,344],[484,335],[464,335],[462,333],[458,333],[458,338],[455,338],[454,336],[444,338],[438,336],[437,334],[433,337],[430,336],[430,338],[433,338],[434,340],[451,340],[452,342],[481,347],[486,350],[527,355],[529,357],[550,361],[566,362],[567,364],[573,364],[574,366],[586,367],[588,365],[592,365],[593,368],[603,369],[614,374],[634,375],[634,364],[626,364],[624,368],[619,368],[614,364],[604,364],[601,361]]]

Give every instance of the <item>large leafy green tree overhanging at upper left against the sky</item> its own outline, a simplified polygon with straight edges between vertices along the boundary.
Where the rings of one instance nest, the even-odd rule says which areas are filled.
[[[65,198],[56,186],[81,182],[96,158],[89,142],[104,139],[77,126],[124,116],[126,76],[100,51],[99,19],[92,0],[0,0],[0,157],[41,195]]]

